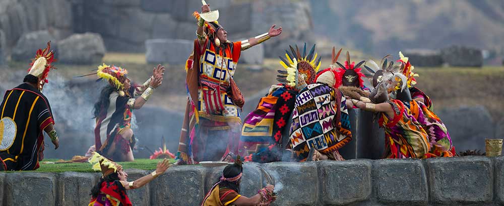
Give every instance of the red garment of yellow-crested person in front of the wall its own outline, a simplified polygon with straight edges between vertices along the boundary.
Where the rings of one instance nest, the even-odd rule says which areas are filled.
[[[88,206],[132,206],[133,204],[120,181],[102,182],[100,193],[92,197]]]

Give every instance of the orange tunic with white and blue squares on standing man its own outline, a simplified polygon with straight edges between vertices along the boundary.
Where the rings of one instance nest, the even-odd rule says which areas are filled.
[[[224,49],[222,49],[224,48]],[[222,44],[220,51],[207,40],[200,58],[199,116],[219,122],[241,122],[238,107],[227,94],[241,54],[241,42]]]

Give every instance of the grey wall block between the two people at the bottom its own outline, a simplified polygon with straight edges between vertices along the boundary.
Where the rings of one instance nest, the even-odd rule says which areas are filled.
[[[205,168],[172,166],[150,183],[151,205],[199,205],[203,191]]]

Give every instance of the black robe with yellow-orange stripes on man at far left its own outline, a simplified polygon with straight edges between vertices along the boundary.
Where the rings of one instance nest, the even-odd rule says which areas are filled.
[[[23,83],[6,91],[0,110],[0,120],[11,119],[16,123],[16,135],[12,145],[0,149],[0,157],[7,169],[37,169],[39,152],[43,150],[43,131],[51,123],[54,124],[49,101],[35,87]]]

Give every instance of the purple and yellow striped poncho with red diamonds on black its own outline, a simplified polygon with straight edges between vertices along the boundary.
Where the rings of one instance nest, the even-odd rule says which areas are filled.
[[[276,86],[276,85],[275,85]],[[245,161],[280,161],[285,145],[282,134],[294,109],[297,91],[279,84],[275,91],[262,97],[256,110],[243,122],[240,149]]]

